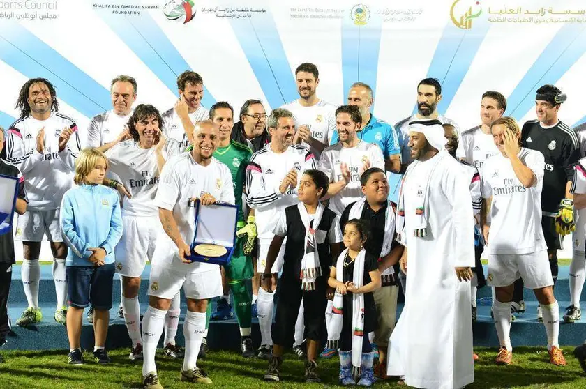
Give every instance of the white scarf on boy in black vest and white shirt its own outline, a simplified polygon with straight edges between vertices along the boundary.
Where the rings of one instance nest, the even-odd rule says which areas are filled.
[[[317,206],[315,215],[310,221],[305,204],[297,204],[301,222],[306,229],[305,244],[303,245],[303,259],[301,259],[301,289],[304,291],[315,290],[315,280],[322,275],[322,266],[320,266],[320,254],[317,251],[317,240],[315,239],[315,230],[320,227],[322,215],[325,207],[322,204]]]

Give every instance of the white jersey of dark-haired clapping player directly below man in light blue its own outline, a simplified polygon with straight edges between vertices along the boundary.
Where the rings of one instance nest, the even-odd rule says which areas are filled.
[[[342,179],[341,164],[345,163],[350,169],[352,178],[345,188],[330,198],[329,208],[342,215],[348,204],[361,199],[362,194],[360,176],[364,172],[363,165],[368,160],[370,167],[378,167],[384,171],[384,158],[380,147],[376,144],[360,141],[357,146],[344,147],[342,142],[325,148],[320,157],[319,169],[328,176],[331,183]]]

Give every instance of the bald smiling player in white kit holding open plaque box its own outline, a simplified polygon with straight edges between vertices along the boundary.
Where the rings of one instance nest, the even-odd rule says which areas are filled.
[[[149,284],[149,309],[142,321],[144,363],[143,386],[160,389],[155,365],[158,340],[163,333],[165,314],[171,300],[183,288],[188,312],[183,324],[185,358],[181,381],[211,383],[207,374],[197,367],[206,327],[206,308],[209,298],[222,294],[220,267],[203,262],[190,262],[190,243],[195,236],[196,199],[201,206],[216,203],[234,204],[234,189],[230,170],[212,158],[218,147],[218,127],[211,121],[195,124],[193,151],[171,158],[160,174],[155,203],[163,232],[157,238]],[[206,256],[225,253],[225,247],[207,245]],[[217,253],[216,253],[217,252]],[[219,255],[218,255],[219,254]]]

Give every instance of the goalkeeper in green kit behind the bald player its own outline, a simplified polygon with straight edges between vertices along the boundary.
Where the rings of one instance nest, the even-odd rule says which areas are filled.
[[[230,264],[223,268],[225,282],[232,292],[234,299],[234,310],[240,327],[241,349],[244,358],[254,356],[253,340],[250,337],[251,312],[250,305],[253,300],[252,290],[247,286],[247,280],[253,278],[254,267],[251,253],[255,246],[257,229],[255,224],[254,210],[250,210],[248,218],[245,219],[245,207],[242,201],[242,192],[246,165],[253,152],[245,144],[230,140],[232,125],[234,124],[234,109],[227,102],[216,102],[209,110],[209,119],[218,125],[220,129],[220,142],[213,153],[213,157],[225,164],[232,173],[234,182],[234,197],[236,206],[239,207],[238,223],[236,226],[236,247]],[[190,146],[191,147],[191,146]],[[245,222],[246,220],[246,222]],[[208,304],[206,312],[206,332],[209,327],[210,316],[212,319],[223,320],[232,317],[232,307],[227,288],[224,287],[225,296],[218,300],[216,312],[211,313],[211,304]],[[205,338],[204,338],[205,340]],[[200,358],[204,356],[205,349],[202,344]],[[203,354],[203,355],[202,355]]]

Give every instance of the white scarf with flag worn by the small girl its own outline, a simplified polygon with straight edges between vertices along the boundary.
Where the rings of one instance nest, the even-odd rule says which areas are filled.
[[[344,264],[348,249],[340,253],[336,261],[336,280],[344,282]],[[352,283],[354,287],[361,288],[364,280],[364,257],[366,250],[361,249],[354,259],[354,272]],[[328,347],[338,349],[338,341],[342,333],[344,312],[344,297],[336,292],[333,296],[333,307],[328,333]],[[360,362],[362,358],[362,340],[364,335],[364,293],[352,293],[352,372],[360,374]]]

